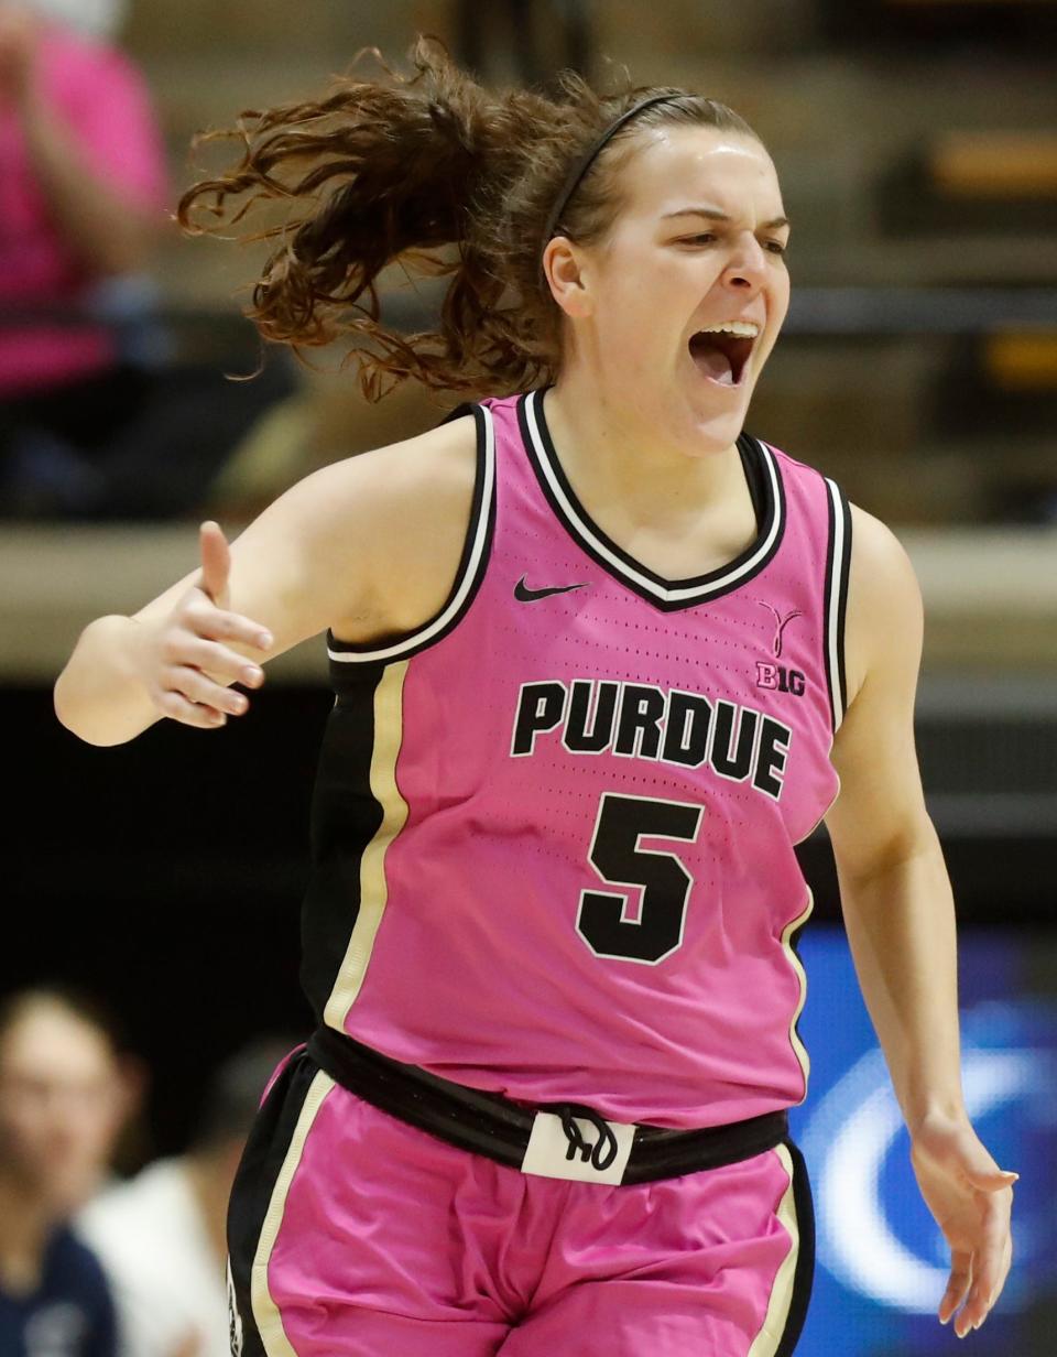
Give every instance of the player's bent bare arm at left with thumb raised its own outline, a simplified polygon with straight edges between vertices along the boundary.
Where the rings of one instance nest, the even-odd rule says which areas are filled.
[[[261,665],[331,627],[346,641],[412,630],[441,609],[465,539],[475,427],[456,419],[299,482],[228,547],[201,531],[201,569],[77,642],[58,719],[94,745],[163,716],[204,729],[246,710]]]

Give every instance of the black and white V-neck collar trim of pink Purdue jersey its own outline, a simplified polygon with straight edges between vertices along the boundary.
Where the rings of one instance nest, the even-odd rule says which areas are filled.
[[[665,579],[608,537],[581,505],[558,460],[544,415],[543,395],[543,391],[532,391],[522,396],[517,406],[521,438],[540,489],[555,517],[577,544],[602,570],[620,579],[639,597],[664,612],[692,608],[739,589],[773,559],[786,528],[786,491],[777,459],[767,444],[745,433],[738,438],[742,461],[757,471],[756,476],[749,474],[757,522],[763,518],[763,522],[758,522],[756,540],[739,556],[718,570],[691,579]]]

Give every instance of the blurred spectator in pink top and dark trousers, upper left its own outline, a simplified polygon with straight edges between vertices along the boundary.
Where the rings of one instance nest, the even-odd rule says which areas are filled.
[[[172,364],[148,275],[164,152],[142,77],[100,37],[119,9],[0,0],[4,516],[190,512],[294,389],[288,362],[246,383]]]

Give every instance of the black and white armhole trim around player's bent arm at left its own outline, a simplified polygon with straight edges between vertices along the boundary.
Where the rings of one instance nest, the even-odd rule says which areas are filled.
[[[377,642],[339,641],[334,632],[327,631],[327,654],[332,665],[389,664],[392,660],[408,660],[444,639],[474,603],[484,578],[495,531],[495,422],[486,406],[460,406],[442,422],[448,423],[456,415],[468,413],[474,415],[478,434],[474,503],[459,570],[444,607],[421,627],[402,636],[393,636],[381,646]]]

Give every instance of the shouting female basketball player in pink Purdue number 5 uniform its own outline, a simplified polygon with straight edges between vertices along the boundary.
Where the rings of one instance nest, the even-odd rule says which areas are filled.
[[[100,745],[214,729],[246,711],[233,683],[328,630],[320,1026],[232,1198],[235,1350],[792,1352],[792,849],[822,817],[963,1337],[1010,1267],[1015,1175],[959,1084],[915,577],[742,433],[788,303],[773,164],[684,91],[555,103],[415,62],[254,115],[185,217],[289,205],[269,339],[355,332],[372,394],[501,395],[309,476],[231,551],[205,524],[201,570],[92,623],[56,691]],[[388,334],[379,273],[440,247],[440,332]]]

